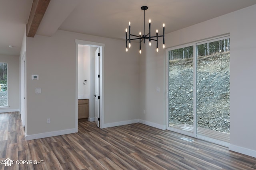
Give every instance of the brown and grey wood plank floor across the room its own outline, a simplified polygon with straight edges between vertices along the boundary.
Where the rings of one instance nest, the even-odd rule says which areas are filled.
[[[0,160],[43,160],[0,170],[251,170],[256,158],[168,130],[134,123],[99,129],[80,121],[78,133],[25,141],[18,112],[0,113]]]

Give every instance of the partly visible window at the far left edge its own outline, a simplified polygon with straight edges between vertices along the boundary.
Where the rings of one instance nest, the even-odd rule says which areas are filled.
[[[0,107],[8,106],[7,63],[0,63]]]

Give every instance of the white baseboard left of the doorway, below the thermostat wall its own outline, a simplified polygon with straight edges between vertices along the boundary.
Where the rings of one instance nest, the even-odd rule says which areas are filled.
[[[34,135],[26,135],[26,141],[33,140],[33,139],[40,139],[45,137],[52,137],[52,136],[58,136],[58,135],[66,135],[70,133],[77,133],[77,129],[66,129],[61,131],[53,131],[53,132],[46,132],[46,133],[38,133]]]

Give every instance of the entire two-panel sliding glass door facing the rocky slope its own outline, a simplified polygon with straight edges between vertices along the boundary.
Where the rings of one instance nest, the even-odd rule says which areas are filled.
[[[167,50],[169,130],[229,143],[229,48],[220,37]]]

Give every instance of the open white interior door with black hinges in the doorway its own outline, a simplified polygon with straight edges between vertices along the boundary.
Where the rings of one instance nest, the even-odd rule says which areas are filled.
[[[95,51],[95,123],[100,127],[100,50]]]

